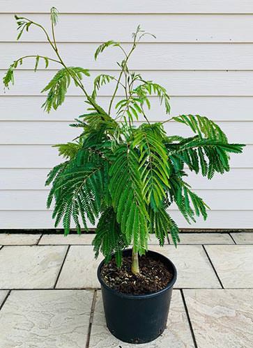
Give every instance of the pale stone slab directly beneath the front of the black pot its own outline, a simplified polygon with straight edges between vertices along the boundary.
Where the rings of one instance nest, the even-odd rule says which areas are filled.
[[[132,345],[122,342],[115,338],[107,329],[105,324],[105,315],[102,307],[102,296],[98,292],[97,301],[95,303],[95,312],[93,316],[93,324],[91,328],[90,348],[183,348],[194,347],[192,335],[187,322],[187,315],[183,306],[183,300],[179,290],[174,290],[171,299],[171,308],[169,310],[169,318],[167,329],[164,333],[153,342],[144,345]]]

